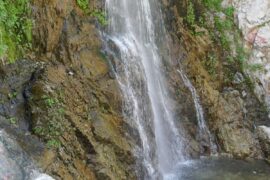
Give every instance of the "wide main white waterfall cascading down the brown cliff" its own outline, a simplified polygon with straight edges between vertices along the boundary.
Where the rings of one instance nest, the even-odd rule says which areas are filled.
[[[162,19],[158,2],[106,0],[106,8],[106,41],[119,51],[111,50],[119,59],[116,78],[125,97],[124,115],[140,136],[142,148],[137,154],[147,169],[144,179],[173,177],[184,156],[156,43],[160,37],[153,22]]]

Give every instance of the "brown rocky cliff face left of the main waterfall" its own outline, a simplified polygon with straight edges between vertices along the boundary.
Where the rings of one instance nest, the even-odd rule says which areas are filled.
[[[88,8],[100,7],[101,1],[90,1]],[[7,86],[15,86],[2,88],[3,107],[12,100],[20,113],[3,114],[40,139],[35,158],[56,179],[134,179],[133,143],[125,136],[118,86],[101,53],[95,17],[73,0],[36,0],[33,18],[32,61],[11,65],[24,76],[13,84],[13,70],[1,71]]]

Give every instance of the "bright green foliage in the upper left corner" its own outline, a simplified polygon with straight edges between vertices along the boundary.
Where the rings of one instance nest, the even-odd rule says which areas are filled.
[[[30,0],[0,0],[0,59],[14,62],[31,48]]]

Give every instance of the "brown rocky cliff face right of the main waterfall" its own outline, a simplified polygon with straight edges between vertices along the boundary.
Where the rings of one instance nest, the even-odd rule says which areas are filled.
[[[169,33],[173,37],[172,49],[178,49],[175,58],[181,61],[180,66],[199,91],[220,152],[237,158],[262,158],[264,153],[254,130],[256,124],[267,123],[267,111],[263,111],[264,102],[253,94],[244,72],[233,67],[228,71],[229,65],[223,58],[225,47],[222,42],[213,40],[213,36],[220,36],[215,27],[217,24],[213,22],[216,14],[205,10],[202,3],[193,1],[163,1],[163,4]],[[191,6],[196,14],[190,13]],[[203,25],[195,24],[196,20],[202,21],[200,16],[205,14],[208,21]],[[190,24],[188,16],[194,16],[194,24]],[[222,13],[219,16],[222,17]],[[233,77],[230,81],[228,74]]]

